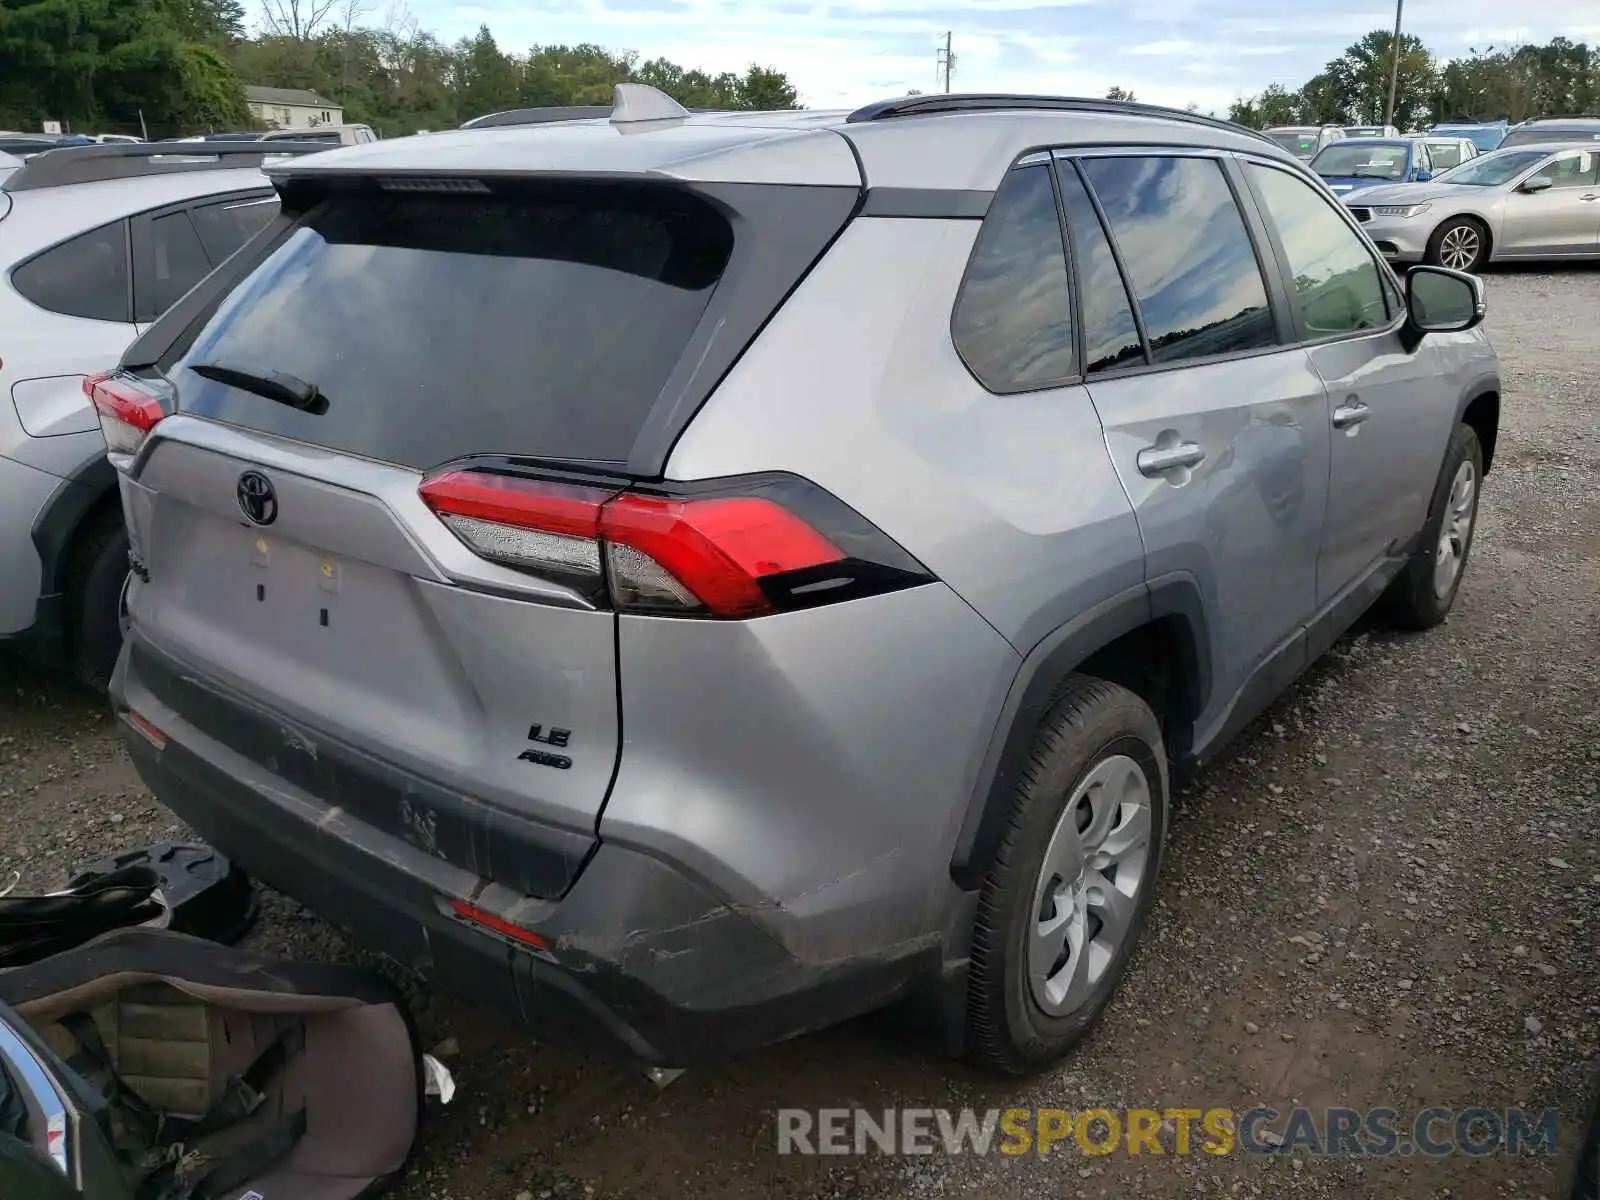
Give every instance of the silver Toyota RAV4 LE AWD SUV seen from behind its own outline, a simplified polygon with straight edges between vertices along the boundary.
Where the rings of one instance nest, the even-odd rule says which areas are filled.
[[[448,987],[682,1066],[1106,1006],[1170,773],[1445,618],[1478,283],[1136,104],[610,118],[272,168],[93,398],[139,771]]]

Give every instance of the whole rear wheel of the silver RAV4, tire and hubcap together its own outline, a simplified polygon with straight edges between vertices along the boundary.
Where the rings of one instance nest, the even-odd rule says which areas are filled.
[[[966,1043],[1035,1070],[1104,1011],[1144,926],[1166,829],[1166,758],[1150,707],[1074,677],[1040,725],[984,882]]]

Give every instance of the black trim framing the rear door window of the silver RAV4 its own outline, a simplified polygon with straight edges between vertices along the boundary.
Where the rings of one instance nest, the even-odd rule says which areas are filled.
[[[1082,147],[1059,149],[1054,150],[1053,157],[1058,162],[1070,162],[1074,170],[1077,170],[1078,178],[1083,181],[1085,190],[1090,194],[1090,203],[1094,205],[1094,214],[1099,218],[1101,229],[1106,230],[1106,237],[1110,242],[1112,256],[1117,259],[1117,274],[1122,275],[1123,290],[1128,293],[1128,302],[1133,306],[1133,320],[1139,328],[1139,341],[1144,344],[1142,365],[1134,363],[1131,366],[1118,366],[1110,371],[1102,371],[1094,376],[1096,379],[1115,379],[1141,371],[1170,371],[1184,366],[1203,366],[1206,363],[1230,362],[1234,358],[1254,358],[1262,354],[1282,354],[1298,344],[1298,325],[1291,317],[1293,306],[1288,302],[1288,296],[1283,291],[1282,254],[1278,253],[1275,240],[1266,240],[1267,229],[1262,226],[1261,213],[1256,206],[1254,190],[1246,190],[1246,181],[1238,178],[1242,168],[1238,166],[1235,154],[1230,150],[1184,146],[1125,146],[1115,149],[1096,147],[1093,150],[1085,150]],[[1238,219],[1245,226],[1245,237],[1250,240],[1250,251],[1256,259],[1256,272],[1261,277],[1262,291],[1267,294],[1267,312],[1272,314],[1275,342],[1272,346],[1259,346],[1250,350],[1232,350],[1227,354],[1210,354],[1197,358],[1178,358],[1160,363],[1154,362],[1150,338],[1144,323],[1144,312],[1139,306],[1139,298],[1131,286],[1131,280],[1128,278],[1128,269],[1123,262],[1122,248],[1117,243],[1112,224],[1106,219],[1106,210],[1101,206],[1099,197],[1094,194],[1088,171],[1082,166],[1080,160],[1083,158],[1210,158],[1216,162],[1218,170],[1222,173],[1222,179],[1227,184],[1227,190],[1234,197],[1234,208],[1238,213]],[[1077,286],[1075,277],[1072,278],[1072,283]]]

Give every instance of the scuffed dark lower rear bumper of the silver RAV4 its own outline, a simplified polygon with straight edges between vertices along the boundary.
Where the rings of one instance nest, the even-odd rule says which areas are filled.
[[[112,696],[139,774],[203,838],[358,942],[544,1035],[693,1066],[835,1024],[939,976],[938,938],[800,962],[738,906],[614,843],[595,846],[558,899],[518,894],[232,752],[130,680],[126,651]],[[128,720],[130,699],[163,741]]]

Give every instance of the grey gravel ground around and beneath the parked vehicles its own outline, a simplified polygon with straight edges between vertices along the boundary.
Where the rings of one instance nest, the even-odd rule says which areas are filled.
[[[413,989],[461,1091],[397,1195],[1565,1195],[1600,1070],[1600,272],[1498,272],[1490,298],[1507,400],[1454,614],[1355,630],[1179,794],[1150,931],[1064,1066],[997,1082],[878,1018],[658,1091]],[[179,832],[99,702],[0,661],[5,877]],[[360,957],[282,898],[250,944]],[[1018,1104],[1554,1106],[1563,1130],[1555,1158],[774,1152],[779,1107]]]

